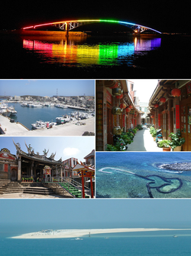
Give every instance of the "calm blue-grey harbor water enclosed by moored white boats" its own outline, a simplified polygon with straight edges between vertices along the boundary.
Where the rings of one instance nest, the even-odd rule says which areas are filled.
[[[21,107],[21,103],[8,103],[8,107],[15,107],[18,112],[15,117],[11,117],[15,122],[24,124],[28,129],[32,129],[31,123],[41,120],[44,122],[57,122],[56,117],[62,115],[70,115],[73,112],[84,112],[84,110],[76,110],[72,108],[61,109],[58,107]]]

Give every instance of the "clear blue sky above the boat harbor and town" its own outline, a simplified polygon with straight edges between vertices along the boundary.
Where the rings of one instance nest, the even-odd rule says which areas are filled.
[[[2,96],[94,96],[95,80],[0,80]]]

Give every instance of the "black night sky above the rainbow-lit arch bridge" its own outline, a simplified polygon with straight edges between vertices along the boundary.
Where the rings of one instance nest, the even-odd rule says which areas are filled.
[[[22,1],[23,2],[23,1]],[[191,31],[187,1],[19,1],[1,2],[0,29],[22,28],[41,22],[79,18],[110,18],[130,21],[159,31]]]

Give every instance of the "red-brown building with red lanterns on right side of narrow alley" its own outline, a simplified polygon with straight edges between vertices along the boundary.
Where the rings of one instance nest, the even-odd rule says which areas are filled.
[[[159,80],[149,101],[150,123],[162,129],[163,139],[180,130],[186,140],[183,151],[191,150],[191,80]]]

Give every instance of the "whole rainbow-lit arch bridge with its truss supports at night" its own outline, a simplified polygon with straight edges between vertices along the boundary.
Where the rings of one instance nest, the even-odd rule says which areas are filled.
[[[30,29],[30,28],[35,29],[35,28],[39,28],[39,27],[43,27],[43,26],[53,25],[53,26],[57,26],[58,28],[62,29],[63,31],[71,31],[74,28],[77,28],[82,25],[91,24],[91,23],[99,23],[99,22],[110,22],[110,23],[125,25],[126,27],[131,28],[135,33],[142,33],[144,31],[150,30],[150,31],[154,31],[154,32],[161,34],[160,31],[157,31],[154,28],[145,27],[143,25],[138,25],[138,24],[134,24],[134,23],[126,22],[126,21],[111,21],[111,20],[102,20],[102,19],[78,20],[78,21],[57,21],[57,22],[44,23],[44,24],[40,24],[40,25],[34,25],[34,26],[22,28],[22,29],[24,29],[24,30]]]

